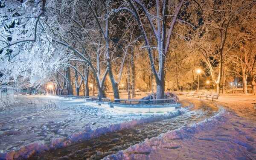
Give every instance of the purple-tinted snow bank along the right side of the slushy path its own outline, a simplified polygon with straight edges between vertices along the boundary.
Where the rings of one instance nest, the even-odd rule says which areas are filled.
[[[224,109],[215,116],[130,146],[104,160],[256,159],[256,126]]]

